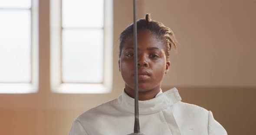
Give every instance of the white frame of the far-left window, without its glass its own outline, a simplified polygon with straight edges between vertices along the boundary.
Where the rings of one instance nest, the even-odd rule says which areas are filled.
[[[0,93],[36,93],[39,81],[39,8],[38,0],[31,0],[31,81],[0,83]],[[7,10],[19,10],[20,8],[7,8]],[[20,9],[23,10],[23,9]]]

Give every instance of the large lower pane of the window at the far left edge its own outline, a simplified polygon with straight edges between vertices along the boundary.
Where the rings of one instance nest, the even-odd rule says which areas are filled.
[[[0,10],[0,82],[30,82],[30,10]]]

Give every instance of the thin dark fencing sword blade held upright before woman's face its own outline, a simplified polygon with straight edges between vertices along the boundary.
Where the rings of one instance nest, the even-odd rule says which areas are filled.
[[[133,0],[133,44],[134,44],[134,91],[135,91],[135,121],[134,133],[129,135],[144,135],[140,132],[139,106],[138,106],[138,45],[137,45],[137,20],[136,20],[136,0]]]

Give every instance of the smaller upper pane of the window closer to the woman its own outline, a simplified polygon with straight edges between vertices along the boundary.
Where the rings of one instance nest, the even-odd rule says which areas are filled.
[[[62,0],[62,26],[103,27],[104,0]]]

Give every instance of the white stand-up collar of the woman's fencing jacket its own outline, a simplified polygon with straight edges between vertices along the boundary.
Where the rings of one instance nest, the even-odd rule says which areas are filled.
[[[172,106],[174,103],[181,101],[181,96],[175,87],[165,91],[162,94],[161,93],[162,91],[160,90],[155,98],[151,100],[139,101],[139,114],[157,113],[169,106]],[[122,94],[118,96],[118,103],[125,111],[134,113],[134,99],[128,96],[124,89]]]

